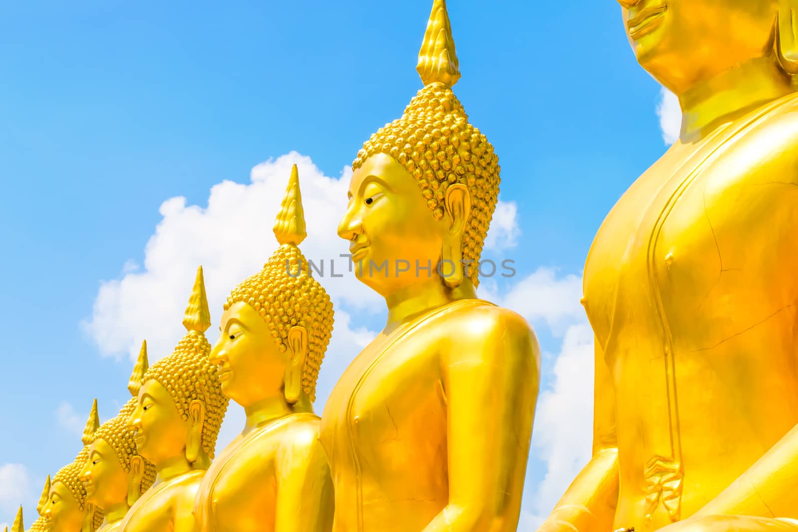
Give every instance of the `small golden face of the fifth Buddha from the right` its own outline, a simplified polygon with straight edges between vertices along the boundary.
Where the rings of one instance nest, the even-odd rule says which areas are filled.
[[[86,488],[86,501],[100,508],[109,508],[127,496],[128,475],[105,439],[96,439],[89,447],[89,459],[78,478]]]

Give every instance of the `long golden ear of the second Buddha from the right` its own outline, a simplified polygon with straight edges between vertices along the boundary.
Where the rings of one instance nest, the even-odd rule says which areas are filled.
[[[463,282],[463,234],[471,216],[471,192],[462,183],[455,183],[446,189],[444,208],[449,226],[440,250],[441,274],[444,283],[456,288]]]

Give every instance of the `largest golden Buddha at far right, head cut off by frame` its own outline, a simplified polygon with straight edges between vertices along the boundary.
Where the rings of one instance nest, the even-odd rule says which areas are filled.
[[[540,530],[796,530],[798,1],[619,2],[681,140],[587,257],[593,458]]]

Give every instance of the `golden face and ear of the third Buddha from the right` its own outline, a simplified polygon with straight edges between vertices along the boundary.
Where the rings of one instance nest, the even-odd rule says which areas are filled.
[[[283,352],[263,317],[251,305],[238,301],[222,314],[220,331],[211,364],[219,366],[222,392],[236,403],[246,408],[267,397],[282,396],[286,382],[302,380],[308,348],[304,327],[289,329],[288,349]]]

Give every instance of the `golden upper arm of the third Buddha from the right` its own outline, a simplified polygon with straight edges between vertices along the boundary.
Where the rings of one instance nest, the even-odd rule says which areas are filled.
[[[318,424],[302,427],[276,456],[275,532],[329,532],[335,507],[330,466],[318,440]]]

